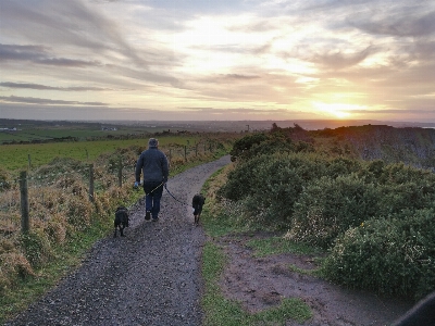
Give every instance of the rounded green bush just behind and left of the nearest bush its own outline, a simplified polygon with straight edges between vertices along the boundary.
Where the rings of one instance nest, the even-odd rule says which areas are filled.
[[[328,248],[339,234],[376,214],[377,198],[374,185],[356,174],[322,177],[309,184],[295,203],[288,236]]]

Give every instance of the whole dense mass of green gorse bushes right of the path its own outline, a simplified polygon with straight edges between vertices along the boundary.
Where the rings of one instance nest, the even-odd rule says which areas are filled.
[[[219,190],[237,203],[237,224],[331,250],[324,275],[346,286],[414,299],[435,290],[434,173],[300,151],[293,131],[272,134],[239,140]]]

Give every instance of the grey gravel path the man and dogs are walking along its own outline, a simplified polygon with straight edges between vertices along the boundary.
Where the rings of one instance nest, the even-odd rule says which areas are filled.
[[[171,178],[160,221],[132,208],[126,237],[98,241],[83,265],[5,325],[201,325],[200,256],[204,235],[194,226],[192,196],[229,156]]]

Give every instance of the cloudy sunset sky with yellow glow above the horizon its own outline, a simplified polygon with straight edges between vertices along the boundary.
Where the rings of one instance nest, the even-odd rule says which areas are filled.
[[[435,1],[0,0],[0,117],[435,123]]]

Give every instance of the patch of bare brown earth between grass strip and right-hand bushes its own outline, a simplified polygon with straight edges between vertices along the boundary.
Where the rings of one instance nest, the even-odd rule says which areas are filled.
[[[224,296],[241,302],[251,313],[279,305],[282,298],[300,298],[311,308],[313,317],[303,324],[287,321],[286,325],[389,325],[412,306],[411,302],[344,289],[318,277],[291,272],[290,265],[306,271],[316,268],[310,255],[285,253],[256,258],[253,250],[246,246],[253,238],[241,235],[219,240],[228,255],[220,281]]]

